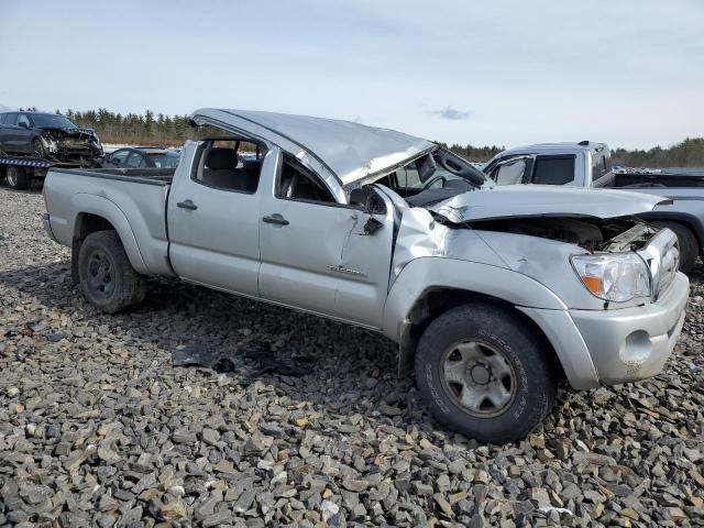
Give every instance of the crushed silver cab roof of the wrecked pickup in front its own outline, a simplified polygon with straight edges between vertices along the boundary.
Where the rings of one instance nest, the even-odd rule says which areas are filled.
[[[342,185],[389,169],[437,146],[395,130],[310,116],[202,108],[190,119],[273,143]]]

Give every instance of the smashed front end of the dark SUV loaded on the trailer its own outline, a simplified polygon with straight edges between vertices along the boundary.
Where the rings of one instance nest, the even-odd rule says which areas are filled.
[[[92,129],[45,129],[40,136],[42,158],[57,165],[91,167],[102,156],[102,145]]]

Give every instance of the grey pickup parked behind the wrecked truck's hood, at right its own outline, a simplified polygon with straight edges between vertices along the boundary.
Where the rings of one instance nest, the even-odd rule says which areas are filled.
[[[697,255],[704,257],[703,169],[614,170],[607,144],[582,141],[509,148],[494,156],[483,170],[498,185],[561,185],[663,196],[671,201],[639,217],[678,235],[680,271],[689,273]]]

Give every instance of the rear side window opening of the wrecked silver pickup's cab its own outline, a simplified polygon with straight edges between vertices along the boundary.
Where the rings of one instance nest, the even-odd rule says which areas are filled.
[[[194,179],[209,187],[253,195],[265,150],[237,139],[206,140]]]

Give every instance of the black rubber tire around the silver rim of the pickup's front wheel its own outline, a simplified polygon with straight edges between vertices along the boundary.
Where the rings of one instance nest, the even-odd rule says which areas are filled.
[[[457,387],[446,381],[448,351],[465,341],[480,343],[483,353],[488,346],[504,354],[502,362],[513,373],[513,386],[507,389],[513,396],[493,416],[482,410],[477,410],[480,416],[472,414],[458,403]],[[557,397],[554,371],[544,344],[522,320],[492,304],[465,305],[442,314],[428,326],[416,350],[416,383],[433,416],[449,429],[495,444],[521,440],[542,422]],[[463,365],[463,372],[470,380],[474,369]],[[492,367],[486,372],[491,383],[494,372]],[[471,383],[476,386],[474,380]],[[472,389],[469,394],[482,393]]]

